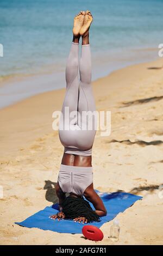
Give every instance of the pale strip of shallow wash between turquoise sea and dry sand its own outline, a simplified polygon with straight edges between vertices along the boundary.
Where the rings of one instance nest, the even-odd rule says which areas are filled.
[[[156,48],[133,48],[129,49],[128,58],[124,52],[118,51],[110,56],[108,53],[106,56],[102,54],[100,61],[95,54],[92,58],[92,82],[127,66],[157,59],[157,51]],[[55,65],[49,65],[42,68],[42,72],[0,77],[0,109],[40,93],[65,88],[65,68],[61,68],[62,66],[65,66],[65,63],[60,65],[58,71],[55,70]]]

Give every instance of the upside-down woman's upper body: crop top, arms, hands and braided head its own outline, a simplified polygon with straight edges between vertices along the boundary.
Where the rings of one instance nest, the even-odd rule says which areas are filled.
[[[72,159],[75,160],[76,156],[74,155]],[[55,186],[60,211],[51,218],[54,220],[65,218],[79,223],[99,222],[99,217],[106,215],[106,209],[102,199],[93,189],[92,178],[92,167],[61,164]],[[66,197],[66,193],[69,193],[69,196]],[[88,201],[93,204],[95,210]]]

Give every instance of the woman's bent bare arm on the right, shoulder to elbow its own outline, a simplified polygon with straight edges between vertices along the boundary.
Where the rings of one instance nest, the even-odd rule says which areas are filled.
[[[107,214],[106,208],[103,204],[102,199],[98,196],[98,194],[93,189],[93,184],[86,188],[84,192],[84,197],[89,200],[95,207],[95,212],[98,216],[102,217]]]

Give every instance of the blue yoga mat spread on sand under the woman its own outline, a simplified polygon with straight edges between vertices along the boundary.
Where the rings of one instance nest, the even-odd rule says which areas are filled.
[[[123,212],[131,205],[133,205],[137,200],[142,197],[135,196],[134,194],[115,192],[115,193],[102,193],[96,191],[98,195],[104,202],[105,208],[108,211],[108,214],[104,217],[101,217],[101,222],[92,222],[92,225],[100,228],[105,222],[111,221],[119,212]],[[92,209],[93,205],[90,204]],[[71,234],[80,234],[82,233],[82,228],[84,225],[90,225],[90,223],[82,224],[75,223],[70,220],[51,220],[49,216],[57,214],[58,204],[47,206],[45,209],[36,212],[36,214],[30,216],[22,222],[15,222],[15,224],[21,225],[27,228],[40,228],[43,230],[52,230],[59,233],[71,233]]]

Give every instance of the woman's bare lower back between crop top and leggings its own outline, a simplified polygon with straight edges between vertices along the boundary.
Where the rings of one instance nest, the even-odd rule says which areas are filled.
[[[61,164],[66,166],[92,167],[92,156],[80,156],[64,153]]]

